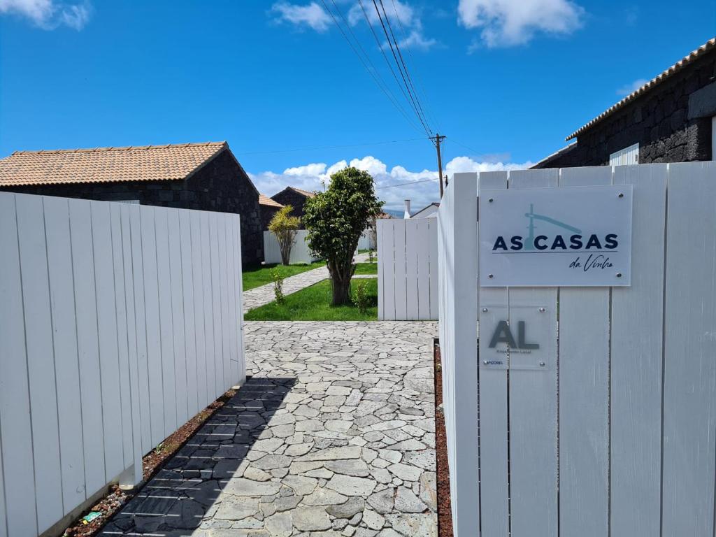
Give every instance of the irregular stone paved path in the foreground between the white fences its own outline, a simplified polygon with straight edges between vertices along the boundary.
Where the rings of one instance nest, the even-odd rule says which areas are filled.
[[[103,535],[435,537],[425,322],[248,322],[248,373]]]

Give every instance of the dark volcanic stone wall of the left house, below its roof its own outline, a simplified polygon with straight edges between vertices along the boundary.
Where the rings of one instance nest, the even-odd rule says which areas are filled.
[[[243,264],[263,261],[258,192],[228,150],[223,150],[185,180],[36,185],[3,190],[89,200],[139,200],[142,205],[238,213]]]

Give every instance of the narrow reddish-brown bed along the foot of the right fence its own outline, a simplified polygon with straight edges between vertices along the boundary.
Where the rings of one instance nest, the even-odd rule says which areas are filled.
[[[453,513],[450,507],[450,470],[445,414],[442,412],[442,362],[440,345],[433,346],[435,359],[435,458],[437,463],[437,536],[453,537]]]

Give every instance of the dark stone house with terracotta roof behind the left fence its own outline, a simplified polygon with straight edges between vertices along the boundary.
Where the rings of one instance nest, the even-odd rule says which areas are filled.
[[[16,151],[0,190],[238,213],[243,263],[263,261],[258,190],[226,142]]]

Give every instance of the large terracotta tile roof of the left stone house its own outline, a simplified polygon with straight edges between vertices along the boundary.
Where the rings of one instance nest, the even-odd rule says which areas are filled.
[[[227,147],[205,142],[16,151],[0,159],[0,186],[185,179]]]

